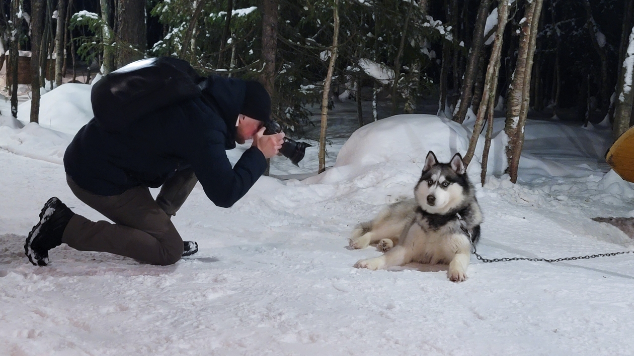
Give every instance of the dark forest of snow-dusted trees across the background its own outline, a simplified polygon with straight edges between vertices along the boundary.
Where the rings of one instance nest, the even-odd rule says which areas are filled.
[[[259,80],[287,133],[302,137],[314,125],[309,110],[321,108],[320,171],[337,101],[356,101],[363,126],[380,120],[380,102],[398,114],[437,100],[437,115],[475,121],[467,163],[486,136],[483,177],[502,109],[515,182],[529,111],[601,121],[614,139],[633,124],[633,8],[634,0],[4,0],[0,63],[14,117],[24,78],[52,89],[68,73],[88,82],[146,57]],[[28,73],[11,66],[20,62]],[[39,97],[32,90],[32,122]]]

